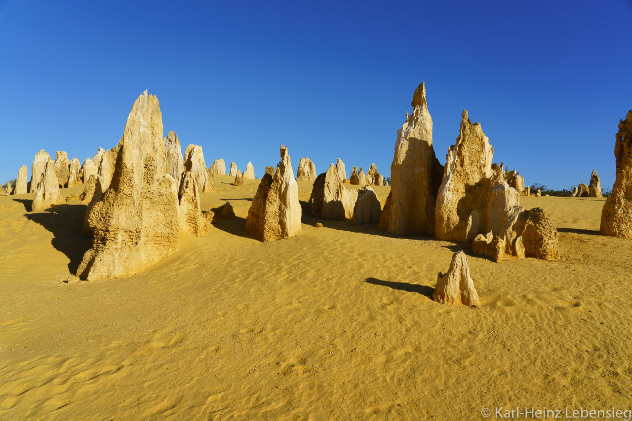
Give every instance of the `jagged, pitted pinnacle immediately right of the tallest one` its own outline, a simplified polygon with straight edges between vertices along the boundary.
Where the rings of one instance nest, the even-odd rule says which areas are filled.
[[[463,110],[459,137],[448,150],[437,193],[437,239],[464,243],[489,231],[485,207],[491,191],[493,154],[480,123],[471,124],[467,110]]]

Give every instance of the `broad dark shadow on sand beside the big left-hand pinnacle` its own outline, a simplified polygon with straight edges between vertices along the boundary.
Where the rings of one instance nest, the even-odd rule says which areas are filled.
[[[83,237],[83,218],[86,209],[86,205],[57,205],[47,209],[47,212],[24,215],[52,232],[55,237],[51,244],[70,259],[68,270],[73,274],[76,273],[83,254],[92,247],[92,239]]]

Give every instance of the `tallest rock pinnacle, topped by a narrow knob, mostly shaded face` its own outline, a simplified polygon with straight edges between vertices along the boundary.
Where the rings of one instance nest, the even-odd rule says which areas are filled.
[[[435,235],[435,203],[443,167],[432,146],[432,117],[422,82],[413,95],[413,114],[398,130],[391,164],[391,193],[379,227],[395,235]]]

